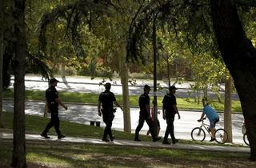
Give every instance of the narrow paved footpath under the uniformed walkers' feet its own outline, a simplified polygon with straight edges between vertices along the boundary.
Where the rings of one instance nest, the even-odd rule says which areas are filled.
[[[0,132],[0,139],[10,140],[13,139],[13,134],[8,131]],[[58,139],[57,136],[50,136],[50,139],[42,138],[38,134],[26,134],[26,140],[30,141],[42,141],[42,142],[80,142],[87,144],[106,144],[114,146],[141,146],[141,147],[152,147],[152,148],[165,148],[165,149],[181,149],[181,150],[205,150],[205,151],[217,151],[217,152],[238,152],[250,154],[249,147],[234,147],[234,146],[206,146],[206,145],[190,145],[177,143],[175,145],[162,145],[160,142],[134,142],[130,140],[116,139],[114,142],[102,142],[101,139],[97,138],[81,138],[81,137],[66,137]]]

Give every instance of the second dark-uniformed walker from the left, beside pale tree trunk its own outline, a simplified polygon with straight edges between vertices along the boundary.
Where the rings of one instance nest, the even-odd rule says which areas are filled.
[[[122,106],[120,106],[118,102],[116,102],[114,94],[110,92],[111,84],[109,82],[105,84],[105,89],[106,90],[101,94],[99,94],[99,97],[98,97],[98,115],[102,116],[103,122],[106,124],[104,134],[102,136],[102,141],[110,142],[110,141],[114,141],[114,136],[111,130],[112,122],[114,119],[113,102],[116,106],[120,107],[121,110],[122,110]],[[109,135],[110,140],[106,138],[107,135]]]

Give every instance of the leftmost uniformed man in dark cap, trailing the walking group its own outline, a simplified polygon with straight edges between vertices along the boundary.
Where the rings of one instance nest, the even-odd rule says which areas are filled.
[[[46,101],[48,104],[48,110],[50,112],[51,118],[45,130],[42,131],[41,136],[44,138],[50,138],[47,133],[53,126],[56,133],[58,134],[58,139],[66,137],[65,135],[61,134],[61,131],[59,130],[58,105],[63,106],[65,110],[67,110],[67,106],[65,106],[58,98],[58,91],[55,88],[57,86],[57,83],[58,80],[56,78],[51,78],[50,87],[46,90]]]

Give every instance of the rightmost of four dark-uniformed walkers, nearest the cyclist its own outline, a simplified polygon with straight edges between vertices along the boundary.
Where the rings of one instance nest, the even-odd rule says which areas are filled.
[[[180,114],[178,113],[177,102],[175,97],[175,92],[177,88],[175,86],[170,86],[170,93],[166,94],[162,100],[162,118],[166,120],[166,133],[163,138],[163,144],[170,144],[168,142],[168,136],[170,134],[172,143],[175,144],[178,142],[178,139],[174,137],[174,117],[175,114],[178,114],[178,119],[180,119]]]

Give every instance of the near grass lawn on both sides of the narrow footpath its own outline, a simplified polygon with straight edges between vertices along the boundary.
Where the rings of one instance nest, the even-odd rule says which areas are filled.
[[[13,114],[4,112],[2,121],[12,129]],[[26,132],[39,134],[49,118],[26,115]],[[101,138],[103,129],[72,122],[61,122],[67,136]],[[55,134],[54,129],[50,134]],[[118,139],[134,138],[134,134],[115,131]],[[140,136],[143,141],[151,138]],[[210,144],[208,142],[180,141],[180,143]],[[214,144],[216,145],[216,144]],[[0,139],[0,167],[9,167],[12,141]],[[255,167],[247,160],[249,154],[196,150],[157,149],[148,147],[92,145],[58,141],[27,141],[28,167]]]

